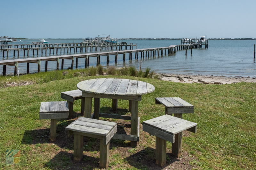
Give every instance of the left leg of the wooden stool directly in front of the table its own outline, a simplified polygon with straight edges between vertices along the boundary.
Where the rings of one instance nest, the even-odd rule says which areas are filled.
[[[74,134],[74,160],[83,159],[84,136]]]

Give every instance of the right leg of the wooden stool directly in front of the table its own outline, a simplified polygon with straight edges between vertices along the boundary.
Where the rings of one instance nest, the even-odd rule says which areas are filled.
[[[109,162],[109,142],[107,145],[103,144],[103,139],[100,139],[100,167],[108,169]]]

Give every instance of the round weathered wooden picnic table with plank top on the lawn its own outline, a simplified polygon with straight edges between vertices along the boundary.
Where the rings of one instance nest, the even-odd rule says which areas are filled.
[[[141,96],[155,90],[152,84],[138,80],[128,79],[91,79],[77,83],[77,89],[82,91],[85,98],[84,117],[99,119],[100,117],[131,120],[131,135],[115,134],[113,138],[130,140],[132,146],[139,141],[138,116]],[[94,98],[94,112],[92,115],[92,98]],[[100,98],[112,99],[113,110],[117,109],[117,99],[129,100],[129,111],[132,116],[100,113]]]

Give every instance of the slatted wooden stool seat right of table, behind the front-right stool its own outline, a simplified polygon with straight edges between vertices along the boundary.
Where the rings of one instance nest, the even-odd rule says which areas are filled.
[[[172,116],[172,114],[194,113],[194,106],[180,97],[157,97],[155,99],[156,104],[165,106],[165,114]]]

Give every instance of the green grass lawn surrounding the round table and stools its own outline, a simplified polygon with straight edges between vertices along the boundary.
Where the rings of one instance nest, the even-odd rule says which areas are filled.
[[[39,109],[41,102],[64,101],[60,98],[60,92],[76,89],[78,82],[103,77],[135,79],[155,86],[155,91],[143,95],[139,102],[140,123],[164,115],[164,106],[156,105],[155,97],[180,97],[195,106],[194,114],[184,114],[183,118],[197,123],[197,133],[186,132],[184,135],[185,157],[183,155],[180,159],[171,157],[171,143],[167,142],[168,157],[164,169],[255,169],[256,83],[185,84],[112,75],[73,77],[1,88],[0,169],[99,168],[98,139],[90,138],[84,142],[84,159],[78,163],[73,161],[73,137],[64,136],[65,127],[81,116],[81,100],[74,104],[74,119],[58,119],[56,143],[50,143],[50,120],[39,120]],[[100,104],[100,112],[111,112],[112,100],[101,99]],[[115,114],[129,115],[127,109],[128,101],[118,100]],[[129,129],[125,122],[129,124],[123,121],[120,126]],[[142,126],[140,133],[140,142],[136,148],[130,147],[129,141],[110,141],[109,165],[112,169],[161,169],[154,166],[155,137],[143,132]],[[5,165],[7,149],[21,151],[20,165]]]

